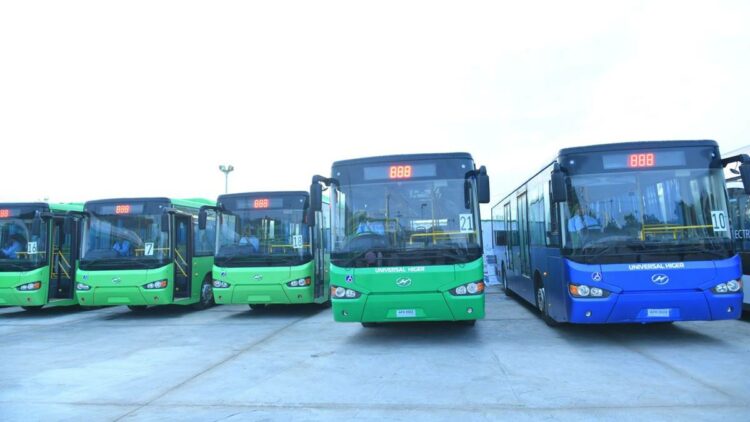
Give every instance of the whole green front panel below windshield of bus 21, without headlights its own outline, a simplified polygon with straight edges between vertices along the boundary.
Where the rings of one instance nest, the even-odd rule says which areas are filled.
[[[331,285],[360,294],[332,298],[340,322],[458,321],[484,317],[484,293],[453,295],[450,290],[482,281],[482,259],[460,265],[341,268],[331,266]],[[407,281],[408,280],[408,281]]]

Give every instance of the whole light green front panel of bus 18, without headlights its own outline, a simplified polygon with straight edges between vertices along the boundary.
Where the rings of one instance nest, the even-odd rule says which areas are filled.
[[[216,303],[226,305],[298,304],[315,302],[315,274],[313,262],[293,267],[217,267],[215,280],[229,284],[227,288],[214,286]],[[291,287],[287,283],[310,278],[306,287]]]

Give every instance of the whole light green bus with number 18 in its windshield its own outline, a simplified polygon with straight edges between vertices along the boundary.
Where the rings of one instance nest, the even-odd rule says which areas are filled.
[[[308,192],[221,195],[216,211],[216,303],[247,304],[251,309],[330,304],[328,218],[325,211],[308,212]],[[308,224],[312,219],[318,224]],[[201,226],[204,220],[202,214]]]

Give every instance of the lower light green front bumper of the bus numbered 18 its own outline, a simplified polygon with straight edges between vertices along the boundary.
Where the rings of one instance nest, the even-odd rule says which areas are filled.
[[[223,305],[290,305],[312,303],[313,286],[287,287],[282,284],[232,285],[222,289],[214,287],[214,300]]]

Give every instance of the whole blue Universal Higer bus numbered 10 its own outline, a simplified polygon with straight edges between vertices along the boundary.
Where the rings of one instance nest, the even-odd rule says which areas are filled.
[[[508,228],[493,236],[506,294],[549,325],[738,318],[723,166],[740,160],[714,141],[560,150],[492,208]]]

